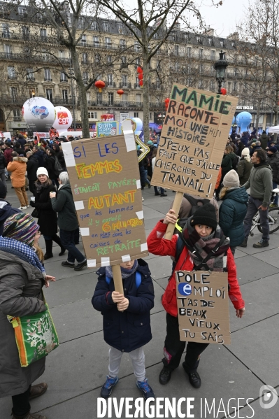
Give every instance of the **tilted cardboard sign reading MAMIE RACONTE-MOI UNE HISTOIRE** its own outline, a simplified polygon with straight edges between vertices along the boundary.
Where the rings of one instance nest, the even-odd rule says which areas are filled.
[[[238,98],[174,84],[152,185],[212,198]]]

